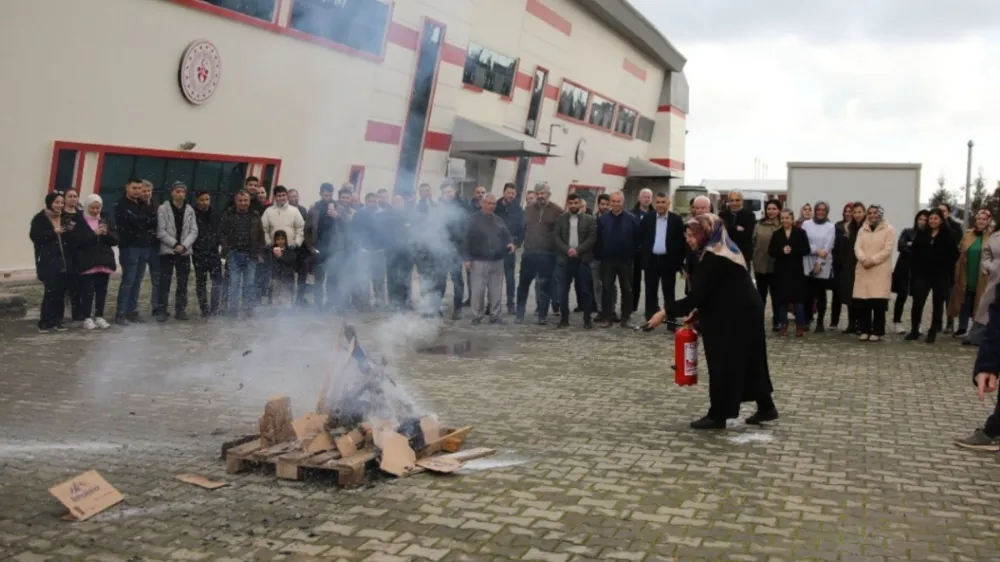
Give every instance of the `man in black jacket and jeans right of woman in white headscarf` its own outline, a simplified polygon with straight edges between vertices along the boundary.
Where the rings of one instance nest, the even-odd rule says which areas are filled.
[[[139,290],[150,256],[154,256],[158,248],[156,214],[149,212],[143,201],[142,181],[138,178],[129,179],[125,184],[125,198],[115,207],[115,229],[118,231],[118,261],[122,266],[115,323],[127,326],[129,322],[143,321],[138,311]],[[159,280],[156,285],[159,287]]]

